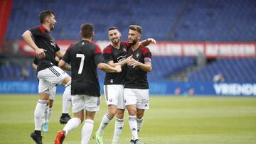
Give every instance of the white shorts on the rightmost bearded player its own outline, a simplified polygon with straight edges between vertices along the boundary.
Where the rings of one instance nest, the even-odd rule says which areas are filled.
[[[124,88],[124,104],[135,104],[138,109],[149,109],[149,89]]]

